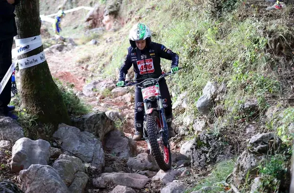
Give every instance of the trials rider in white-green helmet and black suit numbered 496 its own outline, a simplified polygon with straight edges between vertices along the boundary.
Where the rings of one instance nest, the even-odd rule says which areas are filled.
[[[131,46],[124,58],[123,65],[119,71],[119,82],[116,86],[123,86],[127,71],[134,66],[136,79],[158,78],[162,74],[160,59],[172,60],[172,73],[179,70],[179,57],[172,50],[165,46],[151,42],[150,29],[145,24],[135,24],[129,33],[129,42]],[[174,137],[172,130],[172,100],[165,79],[160,80],[160,91],[163,100],[163,106],[166,113],[170,137]],[[133,140],[140,141],[143,133],[144,121],[144,103],[141,89],[135,88],[135,127],[136,132]]]

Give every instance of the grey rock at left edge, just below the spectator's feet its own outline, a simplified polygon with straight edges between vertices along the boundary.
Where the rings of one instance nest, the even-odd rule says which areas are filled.
[[[25,137],[23,128],[10,117],[0,117],[0,140],[7,140],[14,144]]]

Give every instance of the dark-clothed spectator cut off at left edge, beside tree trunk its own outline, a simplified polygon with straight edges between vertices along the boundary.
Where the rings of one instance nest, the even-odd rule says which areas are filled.
[[[0,82],[12,63],[13,37],[17,35],[15,24],[15,5],[20,0],[0,0]],[[18,119],[11,111],[14,106],[8,106],[11,99],[11,76],[0,94],[0,114]]]

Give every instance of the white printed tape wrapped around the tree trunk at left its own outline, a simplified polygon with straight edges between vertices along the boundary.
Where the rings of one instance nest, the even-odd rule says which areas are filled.
[[[39,48],[40,46],[42,46],[42,38],[41,38],[41,35],[38,35],[38,36],[30,37],[30,38],[17,39],[15,40],[15,45],[17,48],[14,48],[11,51],[12,58],[15,58],[26,52]],[[0,82],[0,94],[2,93],[8,80],[10,79],[10,76],[12,75],[12,72],[14,71],[17,62],[19,63],[20,69],[25,69],[25,68],[29,68],[29,67],[41,64],[45,60],[46,60],[45,53],[44,51],[42,51],[39,54],[13,62]]]

